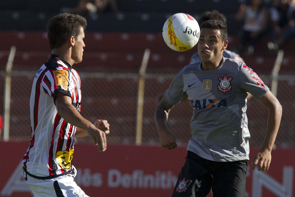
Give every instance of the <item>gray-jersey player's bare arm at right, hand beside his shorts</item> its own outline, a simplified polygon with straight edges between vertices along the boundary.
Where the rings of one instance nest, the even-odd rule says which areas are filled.
[[[262,169],[266,172],[271,163],[271,150],[281,122],[282,106],[270,90],[258,101],[268,110],[268,120],[264,142],[260,152],[253,157],[252,169],[257,165],[259,171]]]

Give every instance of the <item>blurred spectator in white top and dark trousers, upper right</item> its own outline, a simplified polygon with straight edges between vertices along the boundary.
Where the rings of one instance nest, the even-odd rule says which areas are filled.
[[[250,42],[245,55],[252,55],[257,41],[265,34],[268,23],[268,11],[263,6],[262,0],[250,0],[250,5],[241,4],[236,20],[242,19],[245,23],[242,27],[242,39],[238,51],[241,53]]]

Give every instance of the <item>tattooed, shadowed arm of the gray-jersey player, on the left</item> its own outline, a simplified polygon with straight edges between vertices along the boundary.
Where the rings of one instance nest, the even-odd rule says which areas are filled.
[[[175,137],[168,131],[166,123],[168,120],[168,114],[174,105],[169,104],[166,97],[158,104],[155,111],[155,123],[158,129],[158,134],[160,138],[160,144],[167,149],[175,149],[177,146],[175,142]]]

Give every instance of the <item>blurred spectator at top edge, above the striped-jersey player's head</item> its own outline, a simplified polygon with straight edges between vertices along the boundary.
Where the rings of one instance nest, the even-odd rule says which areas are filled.
[[[113,11],[118,12],[116,0],[80,0],[79,5],[75,8],[63,8],[61,12],[71,14],[97,13]]]

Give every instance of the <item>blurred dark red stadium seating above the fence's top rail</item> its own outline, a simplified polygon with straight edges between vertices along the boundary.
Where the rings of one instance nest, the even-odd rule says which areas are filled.
[[[45,32],[0,32],[0,37],[7,38],[0,45],[0,68],[4,66],[8,57],[8,50],[16,45],[17,53],[14,60],[14,69],[35,71],[49,57],[49,44]],[[235,48],[239,38],[231,37],[229,49]],[[148,72],[177,73],[189,63],[196,47],[184,53],[169,49],[159,33],[86,33],[86,48],[83,61],[75,67],[83,71],[100,72],[133,72],[137,73],[141,64],[143,52],[151,49]],[[266,44],[266,43],[264,43]],[[295,44],[291,41],[286,45]],[[269,74],[274,65],[275,54],[269,53],[265,46],[257,49],[251,57],[243,57],[246,64],[257,73]],[[264,48],[264,49],[263,49]],[[34,51],[34,52],[32,52]],[[282,71],[291,71],[295,62],[293,51],[285,50]],[[76,65],[75,65],[76,66]],[[81,71],[81,70],[80,70]]]

